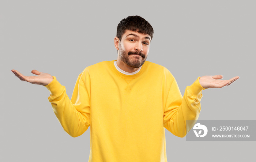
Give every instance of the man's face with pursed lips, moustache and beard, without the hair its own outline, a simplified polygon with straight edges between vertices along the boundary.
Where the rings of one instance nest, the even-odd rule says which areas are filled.
[[[147,59],[151,37],[126,30],[119,42],[119,58],[129,67],[139,68]]]

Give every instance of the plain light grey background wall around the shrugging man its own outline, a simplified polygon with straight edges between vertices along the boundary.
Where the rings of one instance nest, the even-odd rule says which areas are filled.
[[[229,87],[203,91],[200,120],[255,120],[254,0],[0,1],[0,161],[88,161],[90,129],[64,132],[42,86],[11,69],[56,76],[71,97],[89,65],[117,59],[116,27],[140,15],[154,28],[148,61],[165,66],[182,95],[198,76],[240,76]],[[166,130],[167,159],[252,161],[255,141],[186,141]],[[200,155],[200,156],[199,156]]]

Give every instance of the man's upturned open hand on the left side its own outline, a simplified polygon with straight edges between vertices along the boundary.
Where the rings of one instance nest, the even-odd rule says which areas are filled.
[[[50,74],[39,72],[37,70],[32,70],[31,73],[37,76],[24,76],[17,70],[12,70],[12,72],[20,79],[32,84],[39,84],[42,86],[46,86],[50,82],[52,82],[53,78]]]

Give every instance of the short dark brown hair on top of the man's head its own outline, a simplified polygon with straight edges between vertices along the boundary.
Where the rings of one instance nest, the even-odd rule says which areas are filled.
[[[116,36],[121,41],[121,38],[125,30],[137,31],[142,34],[148,34],[153,38],[154,30],[147,20],[140,16],[128,16],[127,18],[120,21],[117,26]]]

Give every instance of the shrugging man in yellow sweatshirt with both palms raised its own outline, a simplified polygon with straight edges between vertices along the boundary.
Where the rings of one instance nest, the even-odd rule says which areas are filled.
[[[153,33],[140,16],[121,20],[114,38],[117,60],[85,68],[71,100],[50,74],[12,72],[48,88],[54,113],[69,135],[80,136],[91,126],[89,162],[167,162],[165,128],[184,137],[193,127],[186,120],[199,116],[202,90],[230,85],[239,77],[198,77],[182,98],[172,74],[146,61]]]

